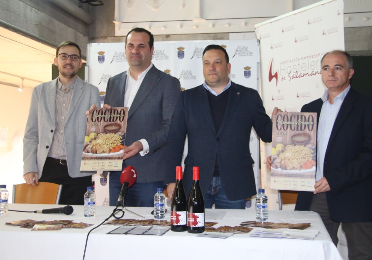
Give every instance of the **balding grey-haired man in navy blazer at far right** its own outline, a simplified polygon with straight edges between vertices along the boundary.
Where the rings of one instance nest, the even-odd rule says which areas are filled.
[[[317,182],[295,210],[318,212],[335,245],[342,222],[349,259],[372,259],[372,100],[350,87],[353,74],[349,53],[323,56],[327,90],[301,109],[317,112]]]

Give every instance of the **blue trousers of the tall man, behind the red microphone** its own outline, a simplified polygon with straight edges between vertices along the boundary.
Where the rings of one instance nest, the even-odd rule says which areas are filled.
[[[123,162],[123,169],[126,167]],[[121,171],[110,171],[109,176],[109,195],[110,206],[116,206],[118,196],[122,187],[120,183]],[[154,207],[154,195],[157,188],[163,188],[163,181],[158,182],[135,182],[128,188],[125,196],[124,205],[126,207]]]

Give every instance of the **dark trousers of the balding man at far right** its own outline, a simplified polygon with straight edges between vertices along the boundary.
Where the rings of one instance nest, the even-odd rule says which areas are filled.
[[[337,246],[340,222],[331,220],[325,192],[312,196],[309,210],[320,215],[333,243]],[[347,240],[349,260],[372,260],[372,222],[343,222],[341,227]]]

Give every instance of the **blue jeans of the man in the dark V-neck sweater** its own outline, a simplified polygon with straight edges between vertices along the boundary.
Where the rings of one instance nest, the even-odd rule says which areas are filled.
[[[245,209],[246,199],[231,201],[225,195],[220,177],[213,177],[209,185],[207,194],[204,196],[205,208],[227,208],[227,209]]]

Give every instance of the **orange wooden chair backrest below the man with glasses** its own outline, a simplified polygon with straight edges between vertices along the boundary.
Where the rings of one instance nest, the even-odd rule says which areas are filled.
[[[58,204],[62,185],[39,182],[37,186],[26,183],[13,185],[13,203]]]

